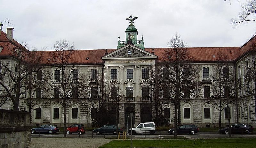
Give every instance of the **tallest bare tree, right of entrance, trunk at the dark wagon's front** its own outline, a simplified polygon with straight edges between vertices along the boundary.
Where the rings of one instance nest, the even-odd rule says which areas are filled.
[[[169,48],[164,51],[163,79],[166,86],[170,88],[170,99],[172,100],[174,111],[174,129],[177,137],[177,115],[179,115],[180,125],[180,101],[190,98],[190,93],[194,96],[200,91],[200,80],[198,66],[193,64],[194,58],[190,55],[186,43],[177,33],[172,36],[168,43]],[[192,96],[192,95],[191,95]]]

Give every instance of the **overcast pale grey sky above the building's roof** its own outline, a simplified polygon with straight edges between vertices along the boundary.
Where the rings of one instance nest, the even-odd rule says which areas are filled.
[[[231,18],[245,0],[0,0],[0,21],[14,26],[13,38],[29,47],[47,47],[65,39],[76,49],[112,49],[118,36],[125,40],[126,20],[138,16],[134,26],[145,48],[164,48],[179,33],[188,47],[240,47],[256,31],[256,23],[235,29]]]

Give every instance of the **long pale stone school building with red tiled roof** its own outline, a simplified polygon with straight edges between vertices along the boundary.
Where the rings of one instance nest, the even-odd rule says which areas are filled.
[[[116,49],[98,50],[74,50],[74,59],[67,64],[70,73],[70,100],[66,108],[66,120],[68,125],[82,123],[86,127],[94,124],[94,115],[99,111],[99,104],[107,110],[108,124],[116,124],[120,127],[131,125],[131,113],[133,124],[152,121],[156,116],[155,106],[152,104],[152,78],[151,72],[156,67],[163,65],[164,51],[168,48],[145,48],[143,36],[138,40],[138,31],[131,24],[125,30],[125,41],[118,40]],[[1,30],[0,34],[0,63],[1,72],[4,65],[16,74],[17,60],[7,50],[13,50],[19,55],[19,51],[28,51],[17,41],[12,39],[13,28],[7,28],[7,33]],[[201,84],[201,93],[188,95],[180,102],[181,124],[192,123],[199,127],[217,127],[219,113],[221,112],[222,126],[228,124],[228,109],[230,109],[231,123],[246,123],[255,127],[255,99],[253,81],[247,77],[248,67],[253,64],[252,45],[256,42],[256,36],[252,37],[242,47],[198,47],[187,48],[194,57],[194,64],[200,68],[198,79]],[[36,83],[38,87],[32,98],[31,123],[41,125],[44,123],[63,126],[64,107],[60,98],[63,76],[60,66],[53,61],[51,56],[54,51],[34,51],[44,55],[46,65],[37,71]],[[214,82],[214,67],[218,64],[218,54],[223,53],[228,57],[228,69],[234,76],[234,88],[223,88],[223,92],[232,92],[236,101],[225,105],[221,110],[205,101],[213,97],[212,83]],[[12,53],[13,54],[13,53]],[[256,62],[256,61],[254,61]],[[254,63],[255,64],[255,63]],[[162,74],[158,75],[163,77]],[[1,76],[1,81],[7,83],[6,75]],[[44,81],[44,82],[43,82]],[[25,82],[24,82],[25,83]],[[10,84],[9,84],[10,85]],[[40,86],[40,87],[39,87]],[[15,92],[11,87],[10,92]],[[28,88],[22,85],[24,93],[20,94],[19,109],[29,110]],[[230,90],[229,90],[230,89]],[[2,100],[4,90],[1,86]],[[97,91],[96,91],[97,90]],[[102,94],[100,94],[100,93]],[[103,94],[104,93],[104,94]],[[166,92],[165,92],[166,93]],[[169,92],[168,92],[169,94]],[[223,94],[225,95],[225,94]],[[223,96],[225,97],[225,96]],[[8,98],[8,97],[7,97]],[[116,99],[118,98],[118,99]],[[74,101],[75,100],[75,101]],[[3,102],[3,101],[2,101]],[[161,104],[160,104],[161,105]],[[1,104],[1,109],[12,109],[13,103],[9,99]],[[164,118],[173,124],[174,105],[166,103],[161,112]],[[118,121],[118,122],[116,122]]]

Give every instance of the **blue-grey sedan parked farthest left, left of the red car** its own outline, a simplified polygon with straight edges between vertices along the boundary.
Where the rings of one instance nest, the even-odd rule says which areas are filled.
[[[35,133],[49,133],[49,134],[52,134],[52,133],[57,133],[59,131],[60,131],[59,127],[56,127],[56,126],[53,126],[53,125],[48,125],[48,124],[47,125],[41,125],[38,128],[31,129],[32,134],[35,134]]]

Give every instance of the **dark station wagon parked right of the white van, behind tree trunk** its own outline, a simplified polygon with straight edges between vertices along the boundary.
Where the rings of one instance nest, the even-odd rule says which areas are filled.
[[[199,132],[199,128],[196,125],[181,125],[177,127],[177,134],[195,134]],[[168,130],[169,134],[174,135],[174,128]]]

